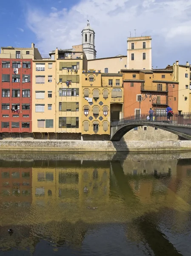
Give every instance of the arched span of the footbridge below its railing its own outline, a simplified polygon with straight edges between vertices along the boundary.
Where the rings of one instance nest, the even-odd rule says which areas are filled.
[[[111,126],[111,141],[119,141],[121,138],[128,132],[131,131],[135,127],[139,126],[151,126],[151,127],[157,127],[159,129],[162,129],[164,131],[169,131],[173,134],[176,134],[180,137],[183,137],[187,140],[191,140],[191,128],[183,128],[183,127],[173,127],[169,124],[157,124],[154,122],[131,122],[123,125],[114,125]],[[185,132],[184,130],[188,130]],[[183,131],[182,131],[183,130]]]

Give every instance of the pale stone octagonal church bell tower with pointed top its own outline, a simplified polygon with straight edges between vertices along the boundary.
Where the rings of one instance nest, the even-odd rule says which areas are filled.
[[[95,32],[90,27],[89,20],[87,26],[82,30],[82,46],[88,60],[96,58]]]

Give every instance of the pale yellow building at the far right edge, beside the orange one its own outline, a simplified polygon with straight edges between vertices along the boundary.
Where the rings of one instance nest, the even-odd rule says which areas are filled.
[[[179,61],[176,61],[172,66],[168,65],[167,70],[173,69],[173,81],[179,82],[178,87],[178,111],[189,112],[191,110],[190,105],[190,66],[186,62],[186,65],[180,65]]]

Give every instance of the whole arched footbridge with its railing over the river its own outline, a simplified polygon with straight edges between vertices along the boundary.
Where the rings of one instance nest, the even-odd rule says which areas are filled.
[[[191,140],[191,113],[174,113],[170,121],[166,115],[154,116],[147,120],[148,114],[128,116],[111,122],[111,141],[120,140],[128,131],[138,126],[152,126],[177,134]]]

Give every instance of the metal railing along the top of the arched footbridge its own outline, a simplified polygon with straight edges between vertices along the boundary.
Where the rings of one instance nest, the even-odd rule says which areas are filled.
[[[167,120],[167,114],[154,114],[152,118],[147,119],[149,114],[140,114],[134,116],[127,116],[119,121],[111,122],[112,125],[123,125],[131,122],[152,122],[152,123],[168,123],[170,125],[191,125],[191,112],[187,113],[174,113],[170,117],[170,121]]]

